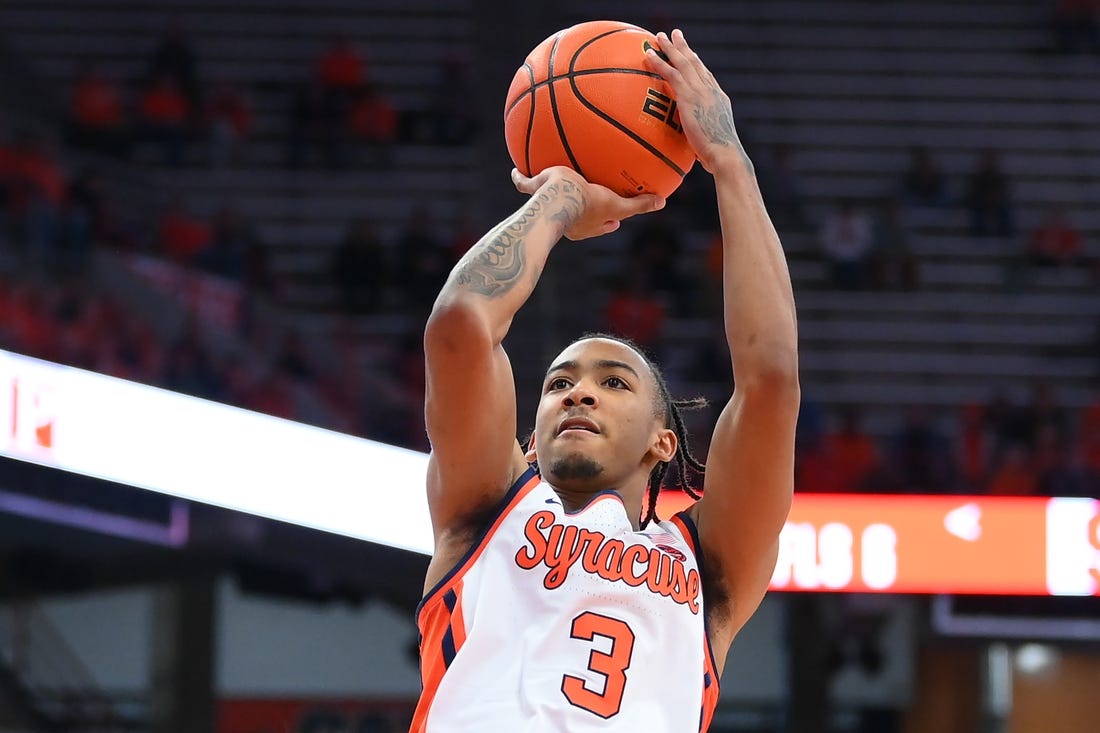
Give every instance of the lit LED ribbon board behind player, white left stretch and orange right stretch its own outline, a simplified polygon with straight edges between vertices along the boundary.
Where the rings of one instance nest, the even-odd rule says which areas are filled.
[[[0,455],[431,553],[422,453],[3,351]],[[1100,502],[796,494],[771,588],[1098,595]]]

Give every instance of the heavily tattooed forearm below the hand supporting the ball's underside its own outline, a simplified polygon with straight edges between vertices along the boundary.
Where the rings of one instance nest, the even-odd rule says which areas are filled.
[[[548,180],[454,265],[436,299],[433,318],[462,309],[488,330],[493,342],[503,341],[513,317],[535,291],[550,250],[580,210],[574,183]]]

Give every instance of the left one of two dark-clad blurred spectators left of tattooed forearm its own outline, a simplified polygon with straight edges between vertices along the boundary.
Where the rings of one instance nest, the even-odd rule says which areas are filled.
[[[349,225],[330,269],[346,315],[371,314],[382,308],[391,272],[382,241],[369,219],[356,219]]]

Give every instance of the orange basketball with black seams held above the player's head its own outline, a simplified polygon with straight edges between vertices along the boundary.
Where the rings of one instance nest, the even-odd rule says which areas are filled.
[[[508,88],[504,135],[524,175],[566,165],[622,196],[669,196],[695,162],[672,90],[646,67],[657,37],[592,21],[528,54]]]

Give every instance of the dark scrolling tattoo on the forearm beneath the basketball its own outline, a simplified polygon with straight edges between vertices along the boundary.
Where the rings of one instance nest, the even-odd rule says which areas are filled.
[[[525,238],[559,198],[563,199],[561,208],[550,214],[550,218],[568,227],[581,210],[581,192],[569,180],[547,186],[512,221],[487,233],[459,265],[457,284],[488,298],[515,287],[527,271]]]

